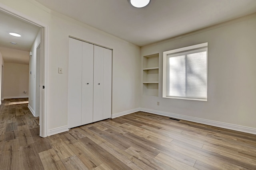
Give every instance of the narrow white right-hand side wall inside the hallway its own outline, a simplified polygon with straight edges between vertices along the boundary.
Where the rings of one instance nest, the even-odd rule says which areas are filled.
[[[28,107],[31,112],[35,114],[36,111],[36,48],[40,43],[41,30],[38,31],[36,39],[30,49],[32,56],[29,57],[29,96],[28,96]],[[30,74],[31,72],[31,74]]]

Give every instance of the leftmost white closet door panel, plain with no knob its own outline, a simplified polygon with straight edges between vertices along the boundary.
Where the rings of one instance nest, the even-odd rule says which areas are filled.
[[[68,128],[81,125],[82,41],[69,38]]]

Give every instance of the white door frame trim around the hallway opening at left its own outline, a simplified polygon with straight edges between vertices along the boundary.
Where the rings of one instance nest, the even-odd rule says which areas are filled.
[[[42,80],[44,81],[44,90],[41,90],[42,87],[40,87],[40,98],[43,100],[40,101],[41,111],[39,115],[39,124],[40,124],[40,137],[47,137],[48,136],[48,34],[49,34],[49,25],[42,23],[39,20],[36,20],[35,18],[32,18],[30,16],[27,16],[17,10],[14,10],[10,8],[9,6],[6,6],[2,3],[0,3],[0,11],[4,12],[6,14],[9,14],[10,16],[14,16],[16,18],[20,18],[23,21],[29,22],[33,25],[36,25],[38,27],[42,28],[41,32],[41,41],[40,41],[40,56],[42,58],[41,61],[44,64],[43,71],[40,72],[40,75],[43,75]]]

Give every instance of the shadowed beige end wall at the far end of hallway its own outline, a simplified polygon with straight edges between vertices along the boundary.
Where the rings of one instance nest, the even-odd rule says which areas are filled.
[[[28,64],[4,64],[3,97],[28,97]],[[24,93],[26,91],[26,94]]]

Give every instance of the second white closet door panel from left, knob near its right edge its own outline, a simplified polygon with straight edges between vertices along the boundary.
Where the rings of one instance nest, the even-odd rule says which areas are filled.
[[[94,45],[82,43],[82,125],[93,122]]]

